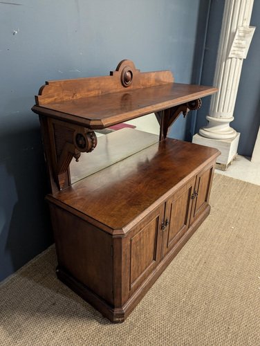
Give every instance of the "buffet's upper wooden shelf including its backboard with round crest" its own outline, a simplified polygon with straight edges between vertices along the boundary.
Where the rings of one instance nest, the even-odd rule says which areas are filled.
[[[133,62],[122,60],[109,76],[46,82],[32,111],[103,129],[216,91],[211,86],[174,83],[171,71],[140,73]]]

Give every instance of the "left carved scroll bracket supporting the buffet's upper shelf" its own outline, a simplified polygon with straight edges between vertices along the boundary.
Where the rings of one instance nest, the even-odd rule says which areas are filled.
[[[59,190],[67,187],[68,167],[73,157],[79,161],[82,152],[92,152],[97,145],[95,132],[60,120],[49,120],[50,140],[54,148],[53,174]]]

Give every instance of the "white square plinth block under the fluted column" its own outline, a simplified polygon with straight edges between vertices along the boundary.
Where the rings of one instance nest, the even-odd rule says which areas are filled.
[[[221,156],[216,159],[216,168],[219,170],[227,170],[228,166],[232,164],[232,161],[237,155],[239,137],[240,134],[238,132],[236,132],[236,136],[232,139],[212,139],[205,138],[200,134],[194,134],[192,143],[219,149]]]

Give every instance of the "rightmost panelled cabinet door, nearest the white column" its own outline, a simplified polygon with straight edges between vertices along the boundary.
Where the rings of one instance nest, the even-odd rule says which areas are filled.
[[[194,199],[192,201],[192,216],[190,224],[201,215],[201,212],[207,208],[210,198],[210,189],[213,178],[213,166],[206,167],[196,176],[196,184],[194,189]]]

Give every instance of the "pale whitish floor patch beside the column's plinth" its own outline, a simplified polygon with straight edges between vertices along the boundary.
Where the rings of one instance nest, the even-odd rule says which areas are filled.
[[[252,163],[250,158],[238,155],[228,170],[215,170],[215,173],[260,185],[260,163]]]

